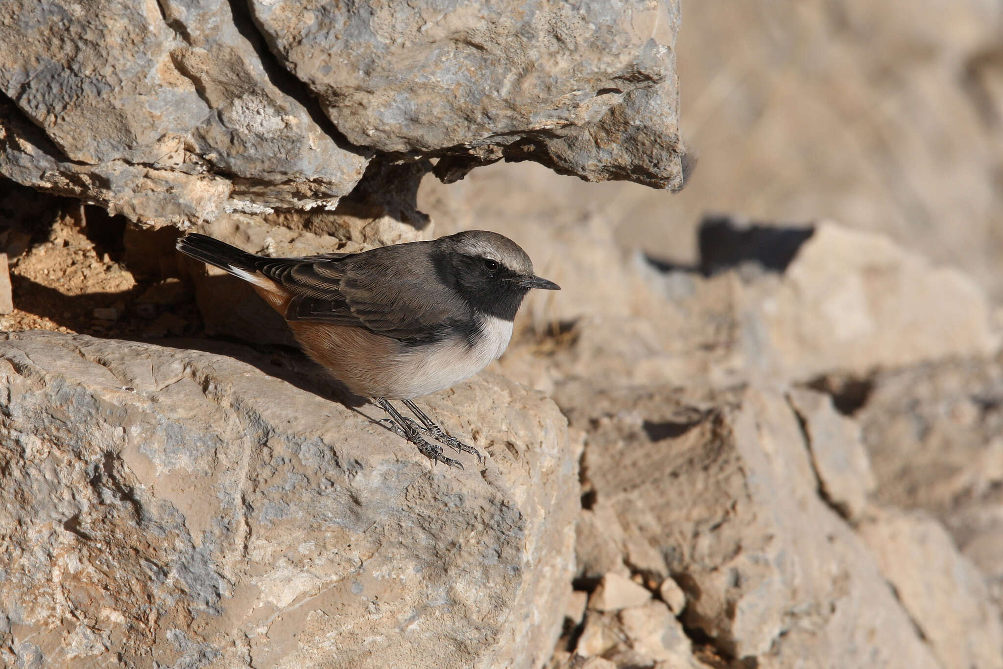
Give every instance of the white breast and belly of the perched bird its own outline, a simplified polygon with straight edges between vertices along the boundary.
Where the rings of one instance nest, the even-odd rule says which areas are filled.
[[[420,397],[445,390],[473,376],[505,353],[512,339],[512,321],[487,316],[482,334],[473,346],[460,338],[418,350],[401,350],[393,364],[393,391],[384,396],[389,399]]]

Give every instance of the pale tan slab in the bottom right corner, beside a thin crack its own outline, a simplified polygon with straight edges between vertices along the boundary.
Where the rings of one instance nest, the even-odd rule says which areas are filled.
[[[995,667],[1003,652],[1003,616],[982,575],[951,537],[920,513],[876,513],[861,535],[942,666]]]

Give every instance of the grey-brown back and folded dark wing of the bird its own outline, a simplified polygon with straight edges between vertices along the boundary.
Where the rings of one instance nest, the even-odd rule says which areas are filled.
[[[263,258],[257,269],[293,295],[288,320],[362,327],[407,344],[429,343],[462,330],[472,313],[437,280],[431,256],[422,248],[426,244]]]

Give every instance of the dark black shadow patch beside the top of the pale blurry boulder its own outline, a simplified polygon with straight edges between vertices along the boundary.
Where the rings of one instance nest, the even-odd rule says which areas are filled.
[[[700,271],[706,276],[755,262],[771,272],[783,272],[814,228],[741,225],[729,217],[704,218],[698,244]]]

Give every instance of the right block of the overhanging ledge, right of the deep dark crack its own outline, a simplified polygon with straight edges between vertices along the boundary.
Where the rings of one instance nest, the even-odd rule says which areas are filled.
[[[446,181],[508,157],[682,186],[675,0],[251,7],[354,144],[460,156]]]

